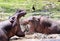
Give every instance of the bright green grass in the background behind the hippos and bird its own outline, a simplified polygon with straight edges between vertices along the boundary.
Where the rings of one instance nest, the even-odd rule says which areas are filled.
[[[46,1],[53,2],[57,5],[56,8],[50,9],[50,12],[54,12],[53,17],[60,17],[60,12],[57,12],[58,10],[60,11],[60,2],[57,2],[57,0]],[[36,11],[44,10],[43,7],[46,6],[45,0],[0,0],[0,12],[4,12],[2,18],[3,20],[8,19],[4,17],[12,16],[18,8],[27,10],[27,15],[25,16],[25,18],[27,18],[32,15],[33,4],[35,5]]]

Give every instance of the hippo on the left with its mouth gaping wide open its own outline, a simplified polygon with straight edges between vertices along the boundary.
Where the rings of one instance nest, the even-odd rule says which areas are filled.
[[[0,22],[0,41],[9,41],[9,39],[16,35],[24,37],[25,33],[20,28],[19,19],[26,15],[26,11],[19,9],[8,20]]]

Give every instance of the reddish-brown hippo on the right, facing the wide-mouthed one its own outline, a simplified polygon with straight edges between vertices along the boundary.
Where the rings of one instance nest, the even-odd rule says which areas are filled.
[[[23,25],[29,24],[29,33],[60,34],[60,20],[54,20],[45,16],[29,17],[23,21]]]

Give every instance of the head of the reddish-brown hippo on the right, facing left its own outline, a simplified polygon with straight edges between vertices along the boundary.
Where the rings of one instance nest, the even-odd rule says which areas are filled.
[[[22,25],[27,25],[28,24],[27,25],[28,28],[26,26],[25,31],[28,30],[29,34],[34,33],[35,32],[35,27],[37,27],[37,22],[39,21],[38,20],[39,17],[40,16],[31,16],[31,17],[28,17],[27,19],[24,19],[23,22],[22,22]]]

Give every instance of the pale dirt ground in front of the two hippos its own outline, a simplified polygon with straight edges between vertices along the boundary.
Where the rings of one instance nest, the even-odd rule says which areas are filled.
[[[14,36],[10,41],[60,41],[60,34],[44,35],[35,33],[32,35],[26,35],[25,37]]]

